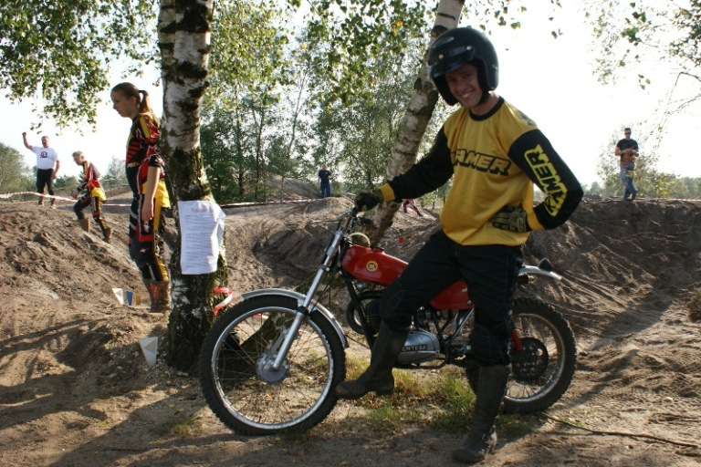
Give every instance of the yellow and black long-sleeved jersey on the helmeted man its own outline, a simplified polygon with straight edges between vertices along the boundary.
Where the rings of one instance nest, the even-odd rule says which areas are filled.
[[[500,98],[486,115],[456,110],[429,153],[382,185],[385,201],[417,198],[453,177],[441,224],[458,244],[523,244],[528,233],[497,229],[489,219],[505,206],[522,206],[531,230],[564,223],[581,200],[580,182],[533,120]],[[546,193],[533,204],[533,184]]]

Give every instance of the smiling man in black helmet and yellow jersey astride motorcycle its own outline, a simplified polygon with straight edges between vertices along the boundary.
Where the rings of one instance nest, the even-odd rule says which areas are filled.
[[[370,366],[358,379],[340,383],[336,395],[392,394],[392,367],[413,312],[463,278],[476,306],[470,340],[479,380],[472,429],[454,457],[479,462],[497,444],[494,423],[510,371],[510,309],[520,245],[530,231],[564,223],[582,190],[535,122],[494,92],[497,52],[487,36],[470,27],[448,30],[435,39],[428,63],[443,99],[461,108],[445,120],[424,159],[379,189],[359,193],[355,203],[367,211],[379,202],[417,198],[453,177],[442,229],[383,293]],[[547,194],[535,207],[534,183]]]

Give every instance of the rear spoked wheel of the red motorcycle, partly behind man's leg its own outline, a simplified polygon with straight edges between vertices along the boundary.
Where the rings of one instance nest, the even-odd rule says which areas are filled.
[[[564,317],[549,304],[519,297],[512,310],[520,348],[511,345],[511,378],[504,411],[530,413],[548,409],[570,387],[577,359],[574,335]],[[478,367],[466,368],[476,390]]]

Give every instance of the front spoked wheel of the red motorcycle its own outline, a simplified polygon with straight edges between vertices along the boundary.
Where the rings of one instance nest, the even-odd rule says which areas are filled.
[[[275,365],[298,316],[297,299],[254,296],[214,321],[200,355],[200,385],[214,415],[243,435],[305,431],[336,405],[345,351],[329,319],[312,311]]]

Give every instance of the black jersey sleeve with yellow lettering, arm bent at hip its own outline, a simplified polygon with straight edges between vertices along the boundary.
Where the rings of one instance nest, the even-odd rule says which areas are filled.
[[[554,229],[565,223],[584,192],[545,135],[540,130],[524,133],[511,146],[508,157],[546,194],[545,200],[533,210],[535,219],[528,219],[531,228]]]

